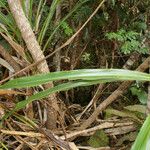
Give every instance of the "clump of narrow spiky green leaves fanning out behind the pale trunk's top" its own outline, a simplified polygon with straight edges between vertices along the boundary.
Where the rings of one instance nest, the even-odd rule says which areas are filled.
[[[22,1],[25,15],[28,18],[33,30],[36,32],[38,42],[42,46],[43,51],[50,46],[52,40],[55,38],[54,35],[59,32],[60,28],[62,28],[67,36],[73,34],[73,29],[67,23],[67,19],[88,1],[89,0],[78,1],[72,10],[65,14],[57,25],[54,25],[53,18],[56,8],[61,2],[60,0],[52,1],[50,7],[46,6],[46,2],[44,0],[40,0],[38,3],[30,0],[28,8],[26,8],[27,6],[25,5],[25,0]],[[9,34],[14,41],[22,43],[21,34],[6,5],[8,5],[6,0],[0,1],[0,9],[6,11],[6,14],[4,14],[3,11],[0,12],[0,23],[4,27],[3,28],[0,24],[0,30],[6,34]],[[28,11],[26,12],[26,10]]]

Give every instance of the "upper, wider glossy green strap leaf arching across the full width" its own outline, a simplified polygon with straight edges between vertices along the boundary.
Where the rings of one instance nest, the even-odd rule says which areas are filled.
[[[33,87],[56,80],[139,80],[150,81],[150,75],[137,71],[123,69],[81,69],[73,71],[60,71],[22,77],[10,80],[0,86],[0,89]]]

